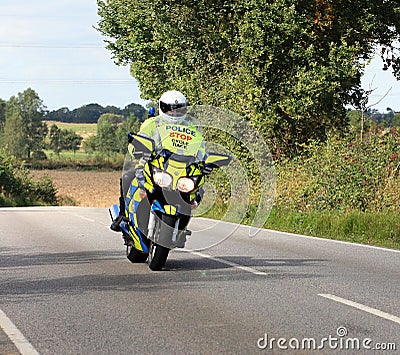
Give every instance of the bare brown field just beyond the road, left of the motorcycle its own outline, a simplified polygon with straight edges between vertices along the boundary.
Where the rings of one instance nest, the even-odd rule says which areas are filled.
[[[110,207],[118,203],[120,171],[32,170],[31,174],[48,174],[62,205]]]

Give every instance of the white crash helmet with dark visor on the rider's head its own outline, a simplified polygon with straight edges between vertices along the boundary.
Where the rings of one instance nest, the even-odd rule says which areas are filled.
[[[159,100],[160,115],[168,123],[181,123],[186,118],[186,97],[179,91],[170,90]]]

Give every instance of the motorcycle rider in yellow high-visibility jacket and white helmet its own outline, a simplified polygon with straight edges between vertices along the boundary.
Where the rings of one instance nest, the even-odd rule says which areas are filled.
[[[155,142],[156,151],[161,151],[162,140],[158,128],[162,125],[179,125],[186,126],[190,130],[196,132],[198,129],[193,125],[193,122],[189,119],[187,115],[187,102],[186,97],[179,91],[170,90],[161,95],[159,99],[159,115],[154,117],[149,117],[144,121],[140,127],[138,135],[152,138]],[[151,112],[149,116],[153,116],[154,112]],[[200,147],[197,160],[201,160],[205,154],[204,142]],[[145,162],[141,161],[135,169],[135,175],[139,183],[139,187],[143,190],[143,195],[145,195],[145,178],[143,175],[143,166]],[[122,188],[122,178],[120,179],[120,211],[119,216],[112,222],[110,228],[113,231],[120,231],[120,223],[125,217],[125,194]],[[202,198],[203,190],[198,193],[195,200],[193,201],[193,207],[196,207]]]

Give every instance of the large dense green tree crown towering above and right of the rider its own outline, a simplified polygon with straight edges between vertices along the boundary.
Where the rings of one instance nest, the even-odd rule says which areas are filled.
[[[275,152],[325,140],[357,107],[377,45],[400,78],[398,1],[98,0],[100,32],[143,98],[167,89],[246,115]]]

